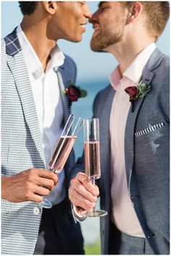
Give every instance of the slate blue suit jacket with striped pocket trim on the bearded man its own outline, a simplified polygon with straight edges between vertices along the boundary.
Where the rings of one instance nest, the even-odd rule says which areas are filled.
[[[151,84],[146,97],[129,111],[125,129],[125,168],[130,199],[154,254],[169,253],[169,159],[170,159],[170,60],[158,49],[143,69],[141,80]],[[97,95],[93,115],[100,119],[101,133],[101,244],[108,254],[110,216],[110,139],[109,116],[114,89]],[[114,239],[114,238],[113,238]]]

